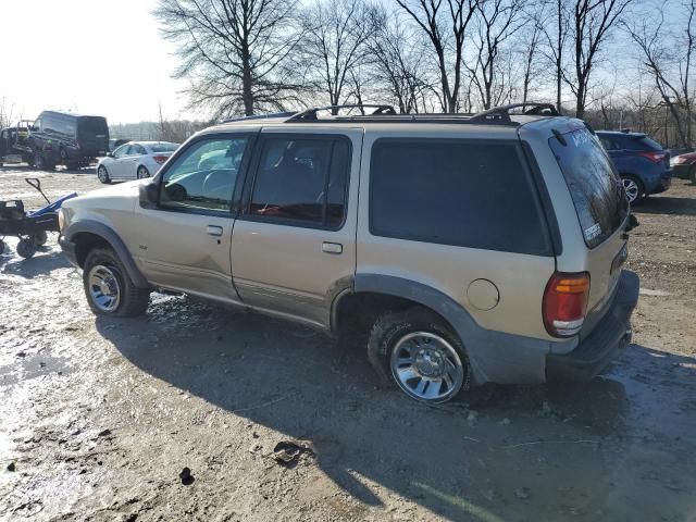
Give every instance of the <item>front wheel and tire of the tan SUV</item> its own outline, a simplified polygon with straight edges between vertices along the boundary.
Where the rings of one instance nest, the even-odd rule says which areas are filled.
[[[149,288],[138,288],[111,248],[96,248],[83,266],[87,302],[99,315],[130,318],[141,315],[150,300]]]

